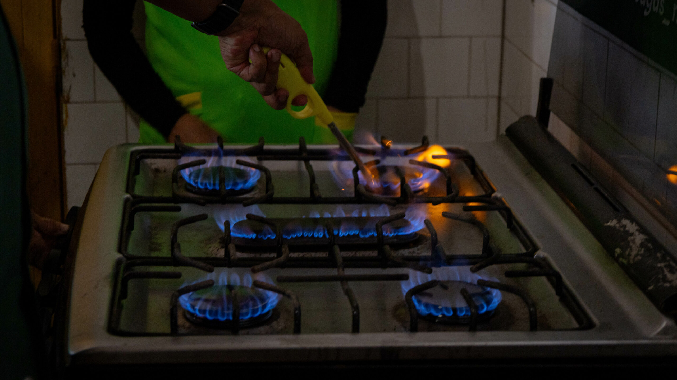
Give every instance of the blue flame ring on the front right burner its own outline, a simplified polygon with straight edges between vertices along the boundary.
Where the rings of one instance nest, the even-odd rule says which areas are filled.
[[[469,266],[443,266],[441,268],[433,268],[433,273],[430,275],[415,270],[410,270],[409,280],[402,281],[400,285],[402,287],[402,294],[406,294],[409,289],[412,289],[412,287],[422,283],[427,283],[428,281],[432,280],[458,281],[460,283],[477,285],[477,280],[479,279],[498,281],[492,277],[483,277],[477,273],[471,272]],[[498,289],[484,289],[486,291],[483,291],[482,293],[472,294],[473,301],[477,305],[477,312],[479,312],[479,314],[490,312],[496,309],[502,300],[501,292]],[[452,316],[455,313],[456,316],[469,316],[471,314],[470,308],[460,295],[454,300],[445,300],[445,302],[443,302],[441,305],[423,302],[417,298],[416,295],[414,295],[412,301],[414,301],[416,310],[418,310],[418,313],[421,315],[433,314],[435,316]]]

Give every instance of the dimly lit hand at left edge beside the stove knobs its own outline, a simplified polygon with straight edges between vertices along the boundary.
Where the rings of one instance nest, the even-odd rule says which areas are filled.
[[[53,250],[56,245],[56,239],[66,235],[70,227],[68,224],[44,218],[32,211],[30,214],[33,231],[30,235],[30,243],[28,243],[28,263],[42,269],[49,251]]]

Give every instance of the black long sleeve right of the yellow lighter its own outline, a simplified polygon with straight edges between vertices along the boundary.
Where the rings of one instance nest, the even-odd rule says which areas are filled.
[[[386,0],[341,0],[339,54],[324,101],[344,112],[358,112],[383,45]]]

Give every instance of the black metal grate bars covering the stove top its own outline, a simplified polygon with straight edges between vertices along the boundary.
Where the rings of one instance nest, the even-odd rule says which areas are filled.
[[[426,138],[422,141],[422,145],[412,149],[403,151],[405,156],[410,154],[417,154],[425,151],[429,146]],[[204,164],[204,160],[195,160],[185,164],[176,166],[172,172],[171,184],[172,195],[160,197],[146,197],[138,195],[134,192],[135,179],[139,175],[139,165],[142,160],[159,159],[159,160],[178,160],[180,158],[195,156],[195,155],[213,155],[215,151],[218,155],[238,156],[257,158],[261,162],[269,160],[280,161],[299,161],[303,162],[305,172],[309,178],[309,189],[307,197],[279,197],[275,195],[274,186],[272,183],[271,171],[265,164],[255,164],[247,160],[237,160],[236,164],[247,168],[257,170],[261,174],[261,179],[257,184],[251,188],[242,189],[228,189],[227,186],[229,178],[239,178],[240,172],[231,170],[225,166],[217,166],[209,169],[208,176],[211,180],[217,178],[218,186],[212,189],[202,191],[191,188],[190,181],[179,175],[181,170],[185,168],[192,168]],[[390,144],[385,144],[380,149],[364,149],[359,151],[364,154],[370,154],[377,157],[386,157],[391,154],[402,154],[402,152],[395,152]],[[355,191],[351,196],[345,197],[323,197],[318,186],[318,178],[315,169],[311,165],[311,161],[330,161],[343,160],[343,158],[336,158],[334,153],[326,149],[309,149],[305,140],[302,138],[299,141],[298,149],[265,149],[264,141],[261,139],[259,144],[244,149],[224,149],[222,141],[219,141],[217,149],[196,149],[188,147],[179,142],[175,144],[173,149],[141,149],[135,151],[131,156],[130,170],[127,181],[127,192],[131,195],[130,199],[125,204],[125,214],[123,218],[123,226],[121,228],[121,237],[119,243],[119,250],[124,256],[124,260],[118,267],[118,281],[116,282],[116,290],[114,293],[114,300],[111,308],[111,318],[109,318],[109,331],[119,335],[130,335],[130,333],[120,329],[120,316],[122,312],[122,304],[128,296],[129,282],[133,279],[177,279],[181,277],[180,271],[164,272],[160,270],[137,271],[136,266],[175,266],[175,267],[192,267],[202,270],[204,272],[214,272],[216,268],[249,268],[252,274],[262,272],[270,268],[336,268],[336,275],[315,275],[315,276],[278,276],[277,283],[307,283],[307,282],[338,282],[350,306],[353,333],[360,331],[360,309],[355,297],[355,291],[351,287],[351,283],[356,282],[380,282],[380,281],[408,281],[411,273],[416,272],[420,275],[429,275],[433,273],[435,268],[441,266],[469,266],[471,272],[477,272],[483,268],[495,266],[497,264],[527,264],[527,268],[523,270],[507,270],[504,272],[506,278],[517,277],[544,277],[547,279],[552,287],[555,289],[556,295],[559,296],[561,302],[565,304],[571,314],[580,323],[581,328],[585,328],[588,323],[588,318],[582,307],[577,304],[573,294],[569,289],[563,285],[562,276],[551,268],[549,264],[538,260],[534,257],[537,247],[524,227],[515,220],[512,215],[510,207],[506,204],[504,199],[496,195],[494,187],[484,176],[481,169],[475,163],[474,158],[462,149],[447,149],[450,153],[448,156],[433,156],[433,158],[446,158],[461,160],[464,162],[468,170],[471,172],[473,178],[483,188],[485,193],[482,195],[465,196],[460,195],[458,188],[452,181],[452,176],[445,168],[437,166],[431,162],[420,162],[416,160],[409,160],[408,163],[412,167],[420,167],[431,170],[437,170],[443,178],[444,188],[443,193],[438,195],[427,195],[418,193],[412,190],[410,186],[410,178],[407,176],[407,170],[393,167],[389,168],[391,172],[397,174],[399,177],[399,195],[377,195],[370,193],[364,188],[364,185],[359,183],[359,176],[357,168],[352,170],[353,183]],[[452,157],[453,156],[453,157]],[[201,162],[202,161],[202,162]],[[367,162],[367,165],[376,166],[380,164],[380,160],[373,160]],[[205,174],[205,173],[202,173]],[[197,174],[196,174],[197,175]],[[244,177],[243,177],[244,178]],[[395,185],[393,185],[395,186]],[[234,190],[234,191],[229,191]],[[238,192],[240,191],[240,192]],[[242,204],[243,206],[250,206],[253,204],[380,204],[387,206],[398,205],[432,205],[439,204],[462,204],[462,210],[465,212],[498,212],[505,222],[506,229],[509,233],[514,235],[524,252],[517,254],[503,254],[497,247],[491,243],[489,230],[483,222],[475,218],[467,218],[459,214],[450,212],[440,212],[437,216],[441,219],[452,219],[471,224],[477,228],[482,235],[481,252],[475,254],[464,255],[447,255],[443,250],[437,236],[433,221],[430,218],[424,219],[423,223],[416,228],[416,231],[408,231],[411,222],[406,220],[405,213],[397,213],[389,216],[370,216],[370,217],[322,217],[322,218],[266,218],[255,214],[247,214],[245,220],[231,222],[230,220],[223,221],[223,237],[221,238],[221,245],[223,248],[223,257],[187,257],[181,253],[181,244],[179,243],[178,233],[181,227],[201,222],[209,218],[209,214],[198,214],[188,218],[182,218],[173,223],[170,233],[170,255],[162,257],[146,257],[137,256],[133,252],[129,252],[129,239],[131,233],[135,229],[135,216],[140,213],[147,212],[162,212],[175,213],[181,212],[182,208],[179,204]],[[437,217],[436,216],[436,217]],[[439,217],[438,217],[439,219]],[[363,231],[369,229],[369,233],[360,236],[355,234],[346,234],[345,225],[357,226],[357,230]],[[298,233],[294,235],[294,231],[301,229],[301,235]],[[368,227],[368,228],[367,228]],[[250,231],[250,235],[242,234],[242,231]],[[425,233],[419,233],[418,230]],[[261,239],[267,231],[268,236]],[[312,236],[303,235],[303,231],[315,231]],[[406,231],[406,233],[398,234],[396,231]],[[253,236],[252,236],[253,234]],[[421,255],[406,255],[393,252],[393,247],[399,244],[412,244],[417,241],[422,241],[426,249],[429,244],[430,251]],[[293,255],[294,252],[301,252],[303,246],[313,246],[318,251],[324,251],[324,256],[303,256]],[[245,246],[259,246],[265,249],[261,252],[253,252],[248,256],[238,255],[238,249]],[[374,249],[376,256],[354,256],[345,254],[347,248],[359,249]],[[274,252],[271,256],[269,252]],[[410,274],[376,274],[366,273],[361,275],[347,275],[345,268],[409,268]],[[456,320],[452,320],[452,316],[447,318],[440,318],[439,314],[434,316],[422,316],[416,307],[415,300],[424,298],[427,291],[431,289],[440,289],[441,285],[445,285],[444,281],[438,279],[431,279],[424,283],[420,283],[408,289],[404,295],[406,306],[410,314],[409,330],[418,331],[419,318],[432,318],[435,323],[449,323],[462,322],[468,324],[468,329],[471,331],[477,330],[477,325],[483,321],[491,318],[493,309],[486,305],[491,304],[492,300],[482,299],[485,304],[477,297],[478,289],[482,289],[479,293],[492,293],[494,289],[497,292],[503,291],[506,293],[513,293],[521,298],[529,312],[529,327],[536,330],[538,328],[538,320],[536,318],[536,306],[529,298],[525,291],[519,287],[511,286],[506,283],[494,281],[495,279],[477,279],[474,283],[460,283],[454,287],[453,291],[458,292],[455,295],[457,301],[463,300],[464,305],[456,307],[452,316],[456,316]],[[219,285],[213,279],[200,281],[191,285],[186,285],[175,290],[169,300],[169,321],[170,321],[170,335],[181,335],[178,326],[179,308],[181,308],[181,300],[189,299],[191,295],[200,292],[215,292],[222,291],[224,285]],[[448,284],[445,285],[447,288]],[[458,289],[460,288],[460,289]],[[220,290],[219,290],[220,289]],[[249,289],[257,289],[256,291],[274,292],[280,297],[284,297],[292,303],[293,306],[293,333],[301,333],[301,302],[297,295],[288,289],[272,285],[269,282],[253,280]],[[231,292],[232,296],[228,298],[230,304],[238,304],[238,292]],[[495,293],[492,293],[495,294]],[[500,293],[499,293],[500,294]],[[233,299],[234,298],[234,299]],[[225,300],[225,298],[224,298]],[[479,301],[478,301],[479,300]],[[496,300],[494,296],[493,300]],[[431,303],[434,305],[434,303]],[[213,318],[204,320],[204,317],[199,313],[188,312],[190,307],[183,307],[188,314],[184,317],[192,320],[194,323],[206,325],[207,327],[219,327],[230,330],[230,333],[237,334],[241,328],[246,327],[249,323],[263,323],[263,320],[270,317],[273,309],[265,310],[253,318],[243,318],[242,312],[239,308],[232,308],[230,318],[225,318],[223,321],[219,320],[217,325],[214,325]],[[463,312],[461,313],[461,310]],[[443,314],[443,313],[442,313]],[[447,313],[448,314],[448,313]],[[219,318],[217,318],[219,319]],[[259,320],[261,319],[261,320]],[[131,335],[144,335],[143,333],[132,333]],[[152,335],[152,334],[151,334]],[[158,334],[156,334],[158,335]],[[159,335],[163,335],[159,333]]]

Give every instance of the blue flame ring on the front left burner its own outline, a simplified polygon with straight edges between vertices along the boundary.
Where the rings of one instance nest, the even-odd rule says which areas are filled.
[[[181,295],[179,297],[181,307],[209,320],[232,320],[233,305],[226,293],[230,289],[240,289],[240,293],[245,295],[240,298],[240,320],[245,320],[269,312],[277,306],[281,298],[273,291],[252,287],[252,275],[244,269],[217,268],[213,273],[193,283],[210,279],[215,282],[213,287]],[[273,280],[263,273],[257,273],[254,279],[273,284]],[[226,285],[232,286],[229,289]],[[204,295],[204,298],[196,299],[197,294]]]

